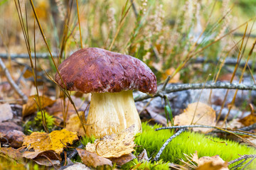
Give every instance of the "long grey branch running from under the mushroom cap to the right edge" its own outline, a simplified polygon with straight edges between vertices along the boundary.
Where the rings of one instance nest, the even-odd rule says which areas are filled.
[[[148,94],[142,94],[134,98],[134,101],[143,101],[147,98],[164,97],[166,94],[170,94],[176,91],[186,91],[186,90],[196,90],[196,89],[238,89],[238,90],[250,90],[255,91],[256,85],[246,85],[246,84],[230,84],[228,82],[216,82],[216,83],[202,83],[202,84],[170,84],[166,86],[165,90],[161,87],[156,91],[155,96],[150,96]]]

